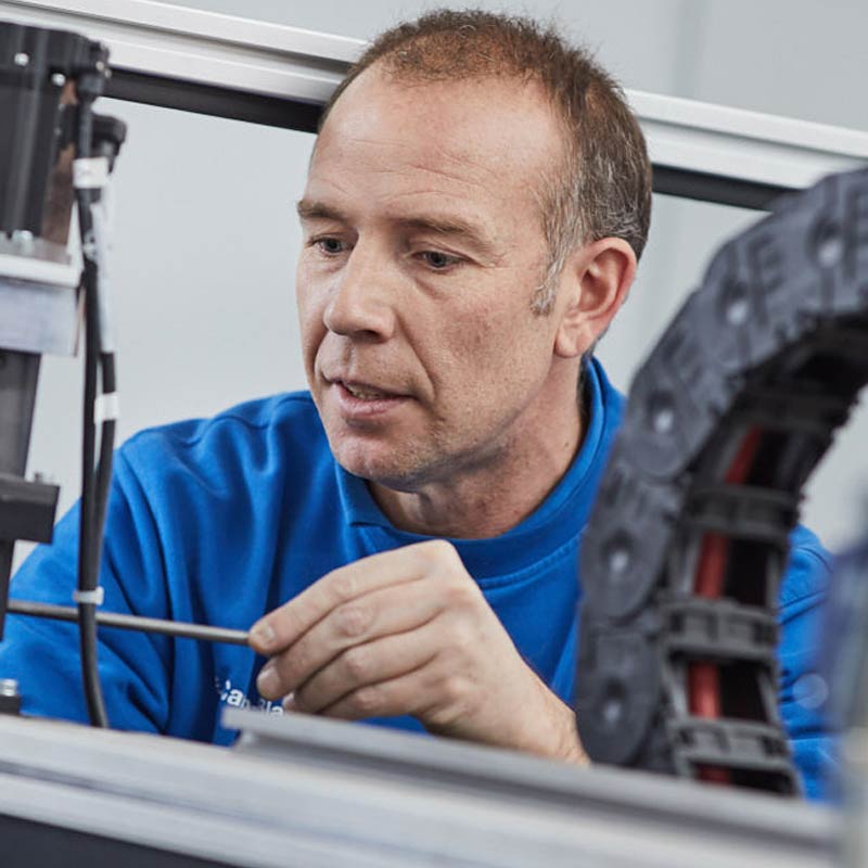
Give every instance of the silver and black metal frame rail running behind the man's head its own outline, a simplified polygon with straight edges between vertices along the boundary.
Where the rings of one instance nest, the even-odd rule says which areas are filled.
[[[357,39],[153,0],[0,0],[0,18],[103,40],[108,95],[312,131]],[[749,208],[868,163],[868,132],[628,91],[654,189]]]

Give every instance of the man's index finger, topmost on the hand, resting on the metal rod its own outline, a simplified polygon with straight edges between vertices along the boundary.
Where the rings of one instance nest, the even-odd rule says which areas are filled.
[[[432,540],[372,554],[334,570],[256,622],[251,628],[251,647],[259,654],[273,654],[295,642],[342,603],[380,588],[422,578],[430,575],[438,562],[450,559],[460,564],[448,542]]]

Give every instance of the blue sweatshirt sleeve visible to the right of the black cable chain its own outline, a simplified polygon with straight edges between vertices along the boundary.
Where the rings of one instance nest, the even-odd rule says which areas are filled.
[[[830,558],[809,531],[792,536],[780,592],[780,712],[805,795],[828,799],[835,770],[835,739],[824,718],[824,682],[816,674]]]

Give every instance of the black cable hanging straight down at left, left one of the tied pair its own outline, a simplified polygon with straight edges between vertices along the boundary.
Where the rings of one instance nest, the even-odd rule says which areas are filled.
[[[90,156],[93,131],[93,97],[86,88],[78,88],[78,135],[76,156]],[[78,536],[78,590],[91,592],[97,589],[102,534],[98,520],[104,510],[94,502],[97,475],[93,461],[95,452],[94,407],[97,401],[97,378],[100,360],[100,319],[98,266],[94,253],[93,218],[90,190],[76,189],[78,226],[81,234],[84,271],[81,289],[85,294],[85,399],[81,436],[81,505]],[[104,484],[107,490],[107,483]],[[92,726],[107,727],[108,716],[100,686],[97,661],[97,605],[92,601],[78,601],[79,648],[81,654],[81,678],[85,688],[88,717]]]

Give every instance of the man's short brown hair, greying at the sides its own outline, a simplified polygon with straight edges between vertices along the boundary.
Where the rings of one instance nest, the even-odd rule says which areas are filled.
[[[327,103],[320,129],[346,88],[381,61],[409,82],[512,76],[537,81],[564,129],[564,161],[539,191],[549,247],[534,308],[551,309],[554,280],[577,244],[622,238],[637,259],[651,221],[651,166],[644,137],[620,85],[553,26],[482,10],[438,10],[381,34]]]

